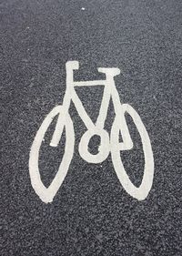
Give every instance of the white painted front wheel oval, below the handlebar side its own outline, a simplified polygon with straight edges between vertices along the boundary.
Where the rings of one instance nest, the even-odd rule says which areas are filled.
[[[63,120],[61,121],[64,123],[63,128],[64,127],[66,128],[66,148],[65,148],[65,153],[64,153],[62,162],[59,166],[59,169],[56,173],[55,178],[51,182],[50,186],[48,188],[45,188],[45,185],[41,180],[41,176],[38,168],[39,149],[44,140],[45,132],[51,125],[56,115],[63,117]],[[57,121],[60,120],[60,117],[58,118]],[[57,123],[56,125],[62,125],[62,124]],[[62,134],[63,129],[61,131],[59,130],[59,132],[61,132]],[[60,138],[61,138],[61,134],[59,134]],[[45,203],[51,202],[54,199],[57,190],[60,188],[61,184],[63,183],[66,177],[66,173],[69,168],[71,159],[73,158],[74,145],[75,145],[75,133],[73,128],[73,122],[69,114],[66,111],[64,111],[64,108],[62,106],[57,106],[56,108],[53,108],[52,111],[46,116],[41,127],[38,129],[30,150],[30,158],[29,158],[29,174],[30,174],[32,187],[35,189],[35,193],[39,196],[39,198],[43,200]]]

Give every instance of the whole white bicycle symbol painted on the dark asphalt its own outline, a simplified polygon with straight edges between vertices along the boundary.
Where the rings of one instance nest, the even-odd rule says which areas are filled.
[[[118,93],[116,91],[114,77],[120,74],[119,68],[115,67],[99,67],[98,72],[106,75],[105,80],[94,80],[94,81],[74,81],[74,70],[78,69],[78,61],[66,62],[66,94],[63,100],[63,105],[56,106],[50,111],[45,117],[42,125],[38,129],[34,142],[30,150],[29,158],[29,174],[35,193],[45,203],[51,202],[56,196],[57,190],[60,188],[63,180],[66,177],[67,170],[69,169],[70,162],[74,155],[75,146],[75,132],[73,122],[69,116],[68,109],[71,100],[74,102],[77,113],[86,125],[86,132],[82,136],[79,143],[79,154],[82,159],[85,159],[89,163],[101,163],[104,161],[109,152],[111,152],[111,158],[116,170],[117,178],[126,192],[135,198],[136,200],[145,200],[147,194],[152,187],[154,177],[154,159],[151,148],[150,139],[147,134],[141,118],[136,113],[136,110],[128,104],[121,104]],[[104,86],[104,93],[99,110],[99,115],[96,119],[96,124],[93,123],[91,118],[88,117],[85,108],[82,105],[81,100],[76,94],[75,87],[93,87],[93,86]],[[113,122],[110,138],[106,130],[104,129],[107,108],[109,105],[110,98],[113,100],[113,105],[116,113],[115,120]],[[120,151],[129,150],[133,148],[133,141],[131,139],[129,130],[126,124],[125,114],[128,114],[135,123],[137,131],[140,135],[141,142],[143,145],[143,152],[145,158],[145,167],[143,179],[140,186],[137,188],[129,179],[126,174],[126,170],[123,166]],[[45,137],[45,132],[49,128],[50,124],[58,115],[56,128],[53,137],[50,142],[50,146],[56,147],[61,139],[63,129],[66,129],[66,148],[62,162],[56,173],[56,177],[48,188],[45,188],[43,184],[38,168],[39,149]],[[119,133],[122,135],[122,142],[119,142]],[[88,151],[88,143],[90,138],[93,136],[100,137],[100,146],[96,155],[91,154]]]

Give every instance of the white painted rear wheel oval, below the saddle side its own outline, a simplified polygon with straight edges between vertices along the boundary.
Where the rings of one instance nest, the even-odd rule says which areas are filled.
[[[123,145],[123,143],[119,143],[119,132],[121,132],[123,138],[128,138],[126,139],[126,146],[128,144],[128,140],[130,140],[131,142],[129,143],[130,145],[133,144],[126,125],[125,113],[127,113],[133,119],[133,122],[137,128],[143,145],[145,168],[142,182],[138,188],[129,179],[120,156],[120,151],[122,150],[122,148],[125,148],[125,145]],[[124,187],[124,189],[126,189],[126,192],[137,200],[145,200],[152,187],[154,178],[153,152],[147,129],[145,128],[139,115],[136,113],[136,110],[128,104],[123,104],[121,106],[120,115],[119,117],[116,115],[115,121],[111,129],[111,157],[114,168],[116,170],[117,178],[121,182],[121,185]]]

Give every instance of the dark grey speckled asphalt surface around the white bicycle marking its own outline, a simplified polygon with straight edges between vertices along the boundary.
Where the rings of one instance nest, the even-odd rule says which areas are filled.
[[[28,160],[35,134],[66,92],[66,61],[77,60],[76,80],[102,79],[96,67],[118,67],[121,102],[136,109],[151,141],[155,175],[146,200],[131,197],[116,177],[111,155],[87,163],[78,145],[86,127],[71,104],[76,144],[66,179],[52,203],[31,185]],[[2,0],[1,256],[182,255],[182,1]],[[96,121],[102,87],[77,94]],[[106,130],[115,111],[110,102]],[[126,117],[134,148],[121,152],[139,186],[144,169],[141,139]],[[39,168],[46,187],[61,162],[47,130]],[[122,136],[122,135],[121,135]],[[98,138],[90,150],[96,154]]]

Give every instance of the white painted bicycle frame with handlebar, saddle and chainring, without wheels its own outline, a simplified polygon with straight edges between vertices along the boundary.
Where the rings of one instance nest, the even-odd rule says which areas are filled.
[[[79,147],[79,151],[81,153],[81,156],[83,159],[86,159],[88,162],[92,163],[99,163],[103,161],[104,159],[107,158],[109,149],[110,149],[110,143],[109,143],[109,137],[104,130],[104,125],[106,121],[106,114],[108,110],[108,105],[109,105],[109,100],[112,98],[115,112],[116,112],[116,118],[120,116],[120,99],[118,96],[118,93],[116,91],[116,86],[115,86],[115,81],[114,77],[120,74],[119,68],[116,67],[98,67],[98,72],[106,74],[106,79],[105,80],[94,80],[94,81],[74,81],[74,70],[79,68],[79,63],[77,61],[68,61],[66,63],[66,94],[63,100],[63,108],[64,112],[68,112],[68,108],[70,106],[71,100],[75,104],[76,110],[82,118],[83,122],[86,125],[87,132],[85,136],[81,139],[81,144]],[[75,87],[95,87],[95,86],[104,86],[104,94],[101,102],[101,107],[99,110],[98,117],[96,119],[96,124],[93,123],[91,118],[88,117],[85,108],[82,105],[81,100],[76,94]],[[60,136],[62,134],[63,130],[63,117],[59,115],[59,119],[56,124],[56,130],[54,132],[53,138],[51,140],[50,146],[56,147],[59,143]],[[132,139],[130,138],[129,131],[127,129],[126,123],[123,123],[123,126],[125,126],[125,141],[122,144],[123,147],[122,149],[131,149],[133,148],[133,142]],[[105,153],[103,152],[103,156],[101,158],[98,157],[98,155],[92,155],[87,152],[86,154],[86,148],[87,144],[89,142],[89,139],[94,136],[98,135],[101,137],[101,140],[103,138],[103,150],[107,150]],[[87,142],[87,143],[86,143]],[[124,147],[125,145],[125,147]],[[102,141],[99,150],[101,151],[102,148]]]

